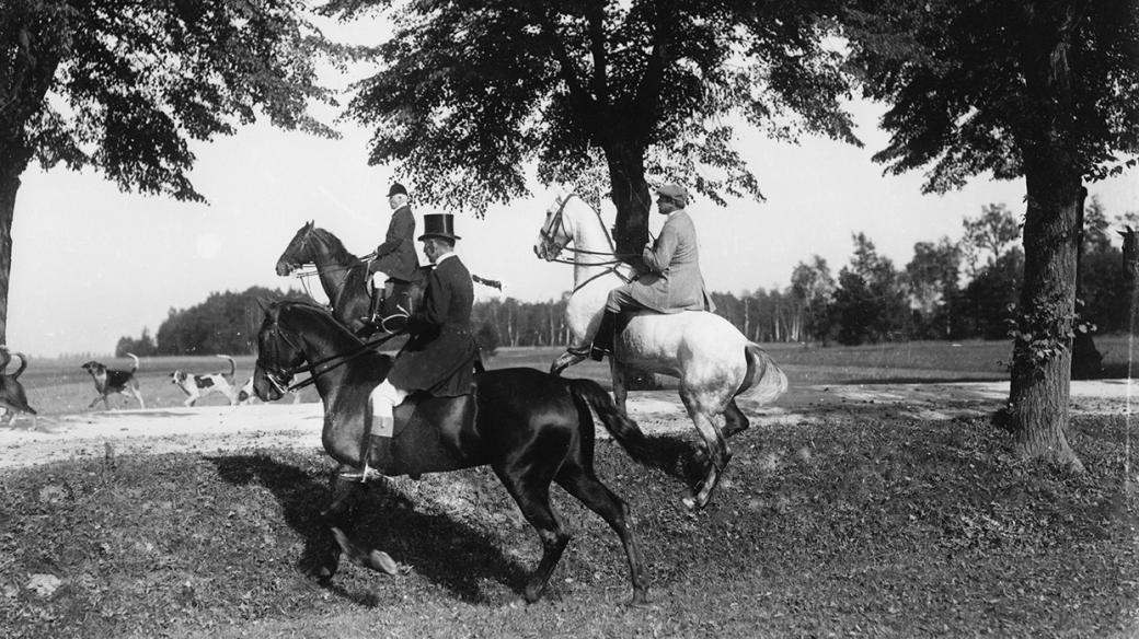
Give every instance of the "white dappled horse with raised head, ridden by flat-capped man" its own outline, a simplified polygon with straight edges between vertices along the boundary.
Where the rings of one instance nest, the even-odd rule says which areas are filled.
[[[560,259],[558,256],[571,242],[573,248],[568,250],[574,259]],[[580,197],[558,194],[546,210],[534,254],[547,262],[574,265],[574,288],[566,304],[573,341],[550,366],[554,374],[585,358],[606,297],[634,276],[632,267],[618,262],[614,250],[600,215]],[[629,395],[629,367],[680,380],[680,399],[707,454],[705,476],[683,501],[689,508],[703,508],[731,458],[724,437],[748,426],[736,397],[767,404],[787,390],[787,376],[767,351],[713,313],[640,312],[629,320],[613,346],[613,396],[622,410]],[[716,423],[719,415],[724,418],[722,431]]]

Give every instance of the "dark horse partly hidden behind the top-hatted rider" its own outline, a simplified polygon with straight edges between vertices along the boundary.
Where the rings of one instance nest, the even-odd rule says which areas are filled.
[[[371,301],[371,283],[368,281],[368,264],[344,248],[344,243],[330,232],[309,222],[297,230],[293,240],[277,259],[277,274],[286,277],[306,264],[317,267],[320,285],[328,296],[333,316],[353,333],[364,327],[361,318],[368,316]],[[410,314],[423,299],[425,269],[412,282],[400,282],[392,297],[379,308],[382,317],[394,318]],[[387,323],[385,323],[386,327]],[[393,322],[388,332],[401,327]]]

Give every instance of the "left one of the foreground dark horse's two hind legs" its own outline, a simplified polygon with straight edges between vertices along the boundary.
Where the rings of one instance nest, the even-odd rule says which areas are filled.
[[[570,536],[562,530],[562,523],[550,507],[551,476],[544,465],[535,465],[533,459],[522,459],[509,468],[494,467],[499,480],[514,497],[523,516],[538,531],[542,540],[542,561],[538,564],[523,596],[533,604],[546,591],[554,566],[562,559],[562,553],[570,542]],[[525,468],[525,470],[523,470]],[[544,475],[544,476],[542,476]]]

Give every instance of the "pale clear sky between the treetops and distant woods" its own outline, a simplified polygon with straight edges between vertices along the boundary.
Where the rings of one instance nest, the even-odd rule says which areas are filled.
[[[713,291],[785,288],[792,269],[812,255],[830,269],[849,264],[852,234],[903,268],[919,241],[958,239],[961,222],[990,204],[1023,213],[1023,180],[975,179],[944,196],[923,196],[923,174],[883,175],[870,160],[887,136],[877,128],[880,105],[851,105],[865,147],[804,138],[798,144],[741,132],[736,146],[759,179],[765,201],[688,207],[700,244],[700,266]],[[524,301],[556,299],[572,288],[572,267],[539,260],[532,250],[552,191],[492,207],[485,218],[415,202],[415,181],[390,166],[368,166],[368,131],[341,125],[328,140],[268,124],[196,143],[190,179],[208,205],[124,193],[96,173],[31,166],[22,176],[13,226],[8,345],[32,357],[114,351],[123,335],[155,334],[172,309],[211,292],[253,285],[302,289],[273,266],[297,229],[314,221],[346,248],[364,255],[384,239],[393,180],[409,186],[424,213],[453,213],[462,238],[457,252],[472,273],[503,282],[502,294]],[[1108,218],[1139,211],[1139,172],[1089,186]],[[612,225],[612,206],[603,207]],[[662,216],[650,216],[656,234]],[[420,262],[426,264],[420,247]],[[311,288],[323,300],[319,282]],[[498,294],[476,287],[481,298]]]

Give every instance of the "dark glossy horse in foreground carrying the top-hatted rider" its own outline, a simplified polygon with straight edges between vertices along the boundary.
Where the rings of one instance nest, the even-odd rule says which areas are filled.
[[[570,536],[550,507],[550,484],[600,515],[621,538],[629,562],[633,603],[647,596],[645,563],[629,506],[593,472],[593,418],[638,460],[653,450],[630,420],[590,380],[563,379],[533,368],[501,368],[476,375],[475,395],[462,398],[412,396],[396,408],[392,438],[364,445],[371,418],[368,395],[386,375],[392,358],[363,342],[323,308],[276,302],[265,309],[257,333],[253,388],[265,401],[278,399],[293,374],[308,370],[325,404],[321,440],[339,464],[333,474],[333,503],[321,513],[336,543],[328,545],[317,574],[335,574],[342,553],[361,565],[395,574],[395,562],[351,539],[353,495],[363,486],[345,474],[364,458],[385,475],[443,472],[490,465],[538,530],[542,559],[525,587],[527,601],[541,597]],[[404,424],[401,426],[401,424]]]

